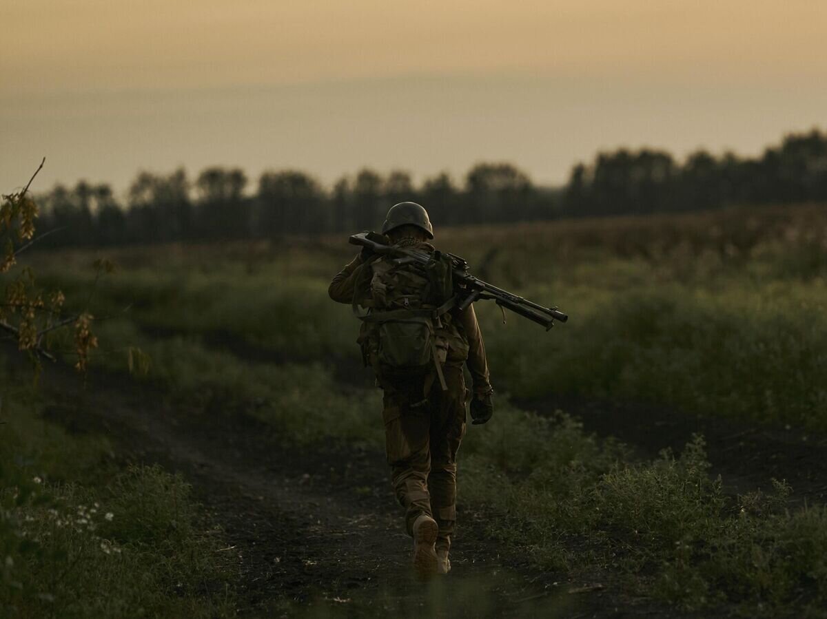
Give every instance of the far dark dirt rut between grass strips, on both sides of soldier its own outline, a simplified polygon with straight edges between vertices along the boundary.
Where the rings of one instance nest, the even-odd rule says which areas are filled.
[[[146,328],[147,335],[170,336],[175,331]],[[206,345],[231,352],[250,363],[296,362],[223,331],[200,334]],[[368,387],[370,372],[358,359],[330,359],[328,365],[343,387]],[[497,385],[508,391],[508,385]],[[549,395],[543,398],[514,398],[514,403],[540,414],[558,408],[579,418],[588,432],[615,437],[633,448],[641,458],[655,458],[660,450],[679,453],[692,435],[705,437],[712,474],[720,474],[724,490],[731,494],[772,488],[771,479],[791,485],[793,502],[827,501],[827,436],[792,427],[756,426],[751,421],[693,415],[648,403],[595,401]]]

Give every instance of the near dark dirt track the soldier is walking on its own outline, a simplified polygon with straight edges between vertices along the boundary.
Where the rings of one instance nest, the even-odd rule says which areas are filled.
[[[126,379],[93,379],[82,392],[76,378],[50,371],[41,383],[61,402],[45,417],[103,431],[129,459],[158,462],[194,485],[225,531],[221,551],[237,559],[242,616],[293,617],[297,608],[327,616],[331,607],[356,617],[674,616],[627,598],[606,574],[569,581],[528,569],[485,534],[488,516],[464,505],[450,580],[423,585],[409,572],[410,540],[380,454],[285,447],[244,412],[176,407]]]

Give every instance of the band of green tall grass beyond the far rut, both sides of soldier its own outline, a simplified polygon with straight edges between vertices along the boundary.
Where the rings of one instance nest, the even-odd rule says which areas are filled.
[[[504,326],[493,304],[479,302],[477,312],[500,391],[653,402],[825,431],[824,281],[759,279],[740,270],[682,283],[637,261],[608,260],[523,288],[528,298],[570,313],[551,333],[514,315]],[[220,335],[241,355],[360,363],[357,321],[350,307],[330,302],[321,279],[271,279],[267,269],[241,277],[232,264],[211,275],[124,271],[103,284],[98,303],[98,315],[138,327],[124,342],[141,334]]]

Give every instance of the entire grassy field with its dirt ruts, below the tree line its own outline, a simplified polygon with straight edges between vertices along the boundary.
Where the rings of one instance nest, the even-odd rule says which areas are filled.
[[[543,333],[514,315],[503,325],[497,307],[477,303],[497,410],[470,428],[460,457],[451,578],[452,595],[474,601],[468,616],[530,616],[538,605],[561,616],[617,606],[823,616],[827,208],[448,229],[435,244],[571,317]],[[23,617],[56,598],[74,600],[76,616],[107,612],[101,600],[114,598],[151,613],[186,603],[227,616],[404,617],[412,596],[418,612],[438,607],[442,585],[422,593],[383,579],[404,562],[407,540],[385,479],[380,392],[361,369],[351,308],[327,298],[355,253],[347,238],[108,250],[117,270],[94,283],[98,253],[32,256],[41,283],[102,318],[100,346],[85,391],[49,368],[36,399],[18,388],[31,419],[15,431],[31,454],[15,470],[47,479],[50,500],[74,512],[105,506],[84,486],[109,488],[146,526],[102,539],[119,540],[124,578],[160,552],[165,571],[150,575],[163,584],[147,585],[155,597],[144,600],[117,583],[111,595],[70,578],[52,587],[63,569],[29,569],[26,587],[43,597],[22,602],[7,588],[7,603]],[[26,369],[15,367],[6,375],[17,384]],[[67,389],[79,393],[60,402],[67,410],[43,414]],[[28,442],[44,432],[60,438]],[[3,455],[4,474],[18,451]],[[273,489],[283,479],[287,489]],[[188,511],[168,518],[177,545],[161,536],[157,550],[170,505],[151,488],[169,484],[180,484]],[[129,507],[130,492],[157,496],[155,520]],[[51,508],[32,504],[23,517],[46,526]],[[340,540],[353,525],[337,518],[348,512],[366,514],[353,533],[363,548]],[[56,564],[88,550],[52,539]],[[231,547],[228,562],[220,550]],[[45,560],[15,552],[19,564]]]

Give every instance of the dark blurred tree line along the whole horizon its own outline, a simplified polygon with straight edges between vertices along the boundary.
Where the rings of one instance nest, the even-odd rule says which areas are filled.
[[[413,200],[437,226],[557,217],[683,212],[735,204],[827,202],[827,133],[790,134],[754,158],[699,150],[682,162],[663,150],[601,152],[576,164],[563,188],[535,185],[508,163],[476,164],[457,184],[446,173],[415,185],[404,170],[361,169],[326,188],[299,170],[270,170],[254,188],[241,169],[190,179],[141,172],[125,198],[108,184],[56,185],[40,196],[43,245],[278,238],[370,230],[388,207]],[[45,224],[45,225],[42,225]]]

